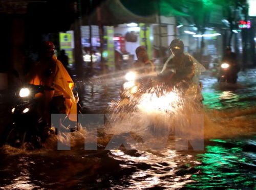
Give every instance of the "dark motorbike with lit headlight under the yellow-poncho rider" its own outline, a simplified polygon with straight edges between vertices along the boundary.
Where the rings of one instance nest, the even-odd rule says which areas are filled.
[[[54,88],[34,84],[26,84],[20,88],[17,103],[11,110],[12,123],[6,133],[5,144],[16,148],[24,146],[27,149],[41,148],[42,143],[49,136],[56,134],[55,128],[48,127],[38,112],[39,100],[35,98],[35,95],[37,93],[43,94],[46,90],[54,90]],[[78,104],[77,93],[75,97]]]

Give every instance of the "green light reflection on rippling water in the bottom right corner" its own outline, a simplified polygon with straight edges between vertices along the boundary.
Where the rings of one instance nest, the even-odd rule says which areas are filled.
[[[244,144],[242,141],[231,139],[210,139],[210,141],[215,142],[216,145],[206,146],[206,152],[197,155],[198,161],[201,162],[196,167],[199,172],[191,176],[195,182],[187,183],[185,187],[200,187],[200,189],[217,187],[242,189],[244,187],[255,187],[256,173],[253,169],[248,171],[248,165],[255,160],[248,160],[243,155]],[[247,169],[244,169],[245,167]]]

